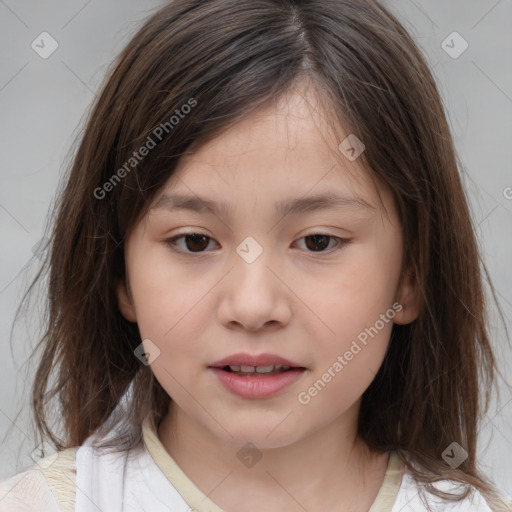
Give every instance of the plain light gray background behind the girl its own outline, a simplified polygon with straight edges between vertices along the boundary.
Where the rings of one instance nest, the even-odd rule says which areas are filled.
[[[71,143],[108,64],[157,0],[0,0],[0,480],[29,465],[28,424],[34,367],[26,359],[37,312],[9,343],[16,306],[34,275],[38,242]],[[447,107],[464,167],[477,235],[512,331],[512,1],[386,2],[425,51]],[[58,42],[47,59],[31,47],[46,31]],[[442,42],[458,32],[469,47],[458,58]],[[453,39],[453,37],[452,37]],[[461,40],[447,43],[460,51]],[[448,49],[448,48],[447,48]],[[36,264],[29,263],[33,259]],[[494,309],[492,310],[494,312]],[[512,351],[493,314],[493,343],[505,375]],[[512,391],[502,385],[482,429],[483,469],[512,495]]]

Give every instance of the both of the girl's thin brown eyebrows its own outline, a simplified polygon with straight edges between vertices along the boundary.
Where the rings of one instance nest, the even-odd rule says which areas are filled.
[[[278,217],[298,215],[334,208],[354,210],[376,210],[361,197],[343,196],[334,193],[323,193],[288,199],[276,203],[275,212]],[[217,202],[206,197],[186,194],[164,194],[151,208],[152,210],[189,210],[197,213],[212,213],[222,217],[229,217],[233,212],[231,205],[225,202]]]

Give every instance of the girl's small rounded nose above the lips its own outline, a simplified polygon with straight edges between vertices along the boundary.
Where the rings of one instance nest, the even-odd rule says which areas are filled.
[[[293,293],[280,267],[271,261],[270,251],[263,251],[251,263],[238,255],[233,262],[221,285],[219,321],[228,328],[251,332],[286,325],[291,318]]]

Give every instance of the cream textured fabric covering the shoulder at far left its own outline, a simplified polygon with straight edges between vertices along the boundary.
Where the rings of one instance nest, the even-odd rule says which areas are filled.
[[[72,512],[75,500],[75,451],[45,457],[0,482],[0,512]]]

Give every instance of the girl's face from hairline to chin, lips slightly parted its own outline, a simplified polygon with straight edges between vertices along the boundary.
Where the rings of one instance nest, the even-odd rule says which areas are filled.
[[[408,283],[398,288],[402,235],[391,194],[382,190],[388,219],[358,160],[340,154],[340,163],[327,148],[348,133],[325,139],[305,99],[288,100],[182,158],[157,207],[128,238],[133,305],[124,286],[119,290],[123,314],[151,340],[150,359],[154,345],[160,351],[151,369],[174,400],[179,424],[261,448],[324,428],[355,429],[393,322],[417,314]],[[171,209],[176,194],[228,209]],[[282,202],[321,194],[357,196],[373,209],[346,203],[276,213]],[[168,244],[184,233],[209,238]],[[350,243],[337,245],[336,237]],[[261,354],[268,357],[258,360]],[[283,364],[278,358],[300,368],[245,376],[212,367]]]

